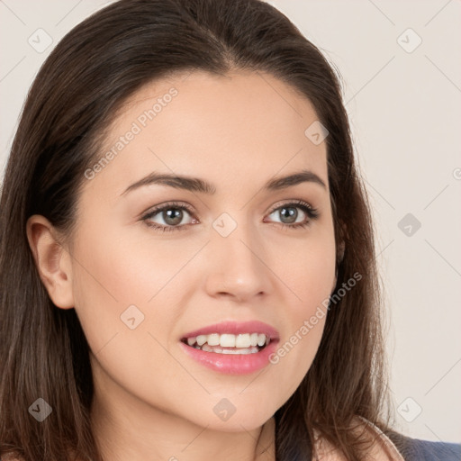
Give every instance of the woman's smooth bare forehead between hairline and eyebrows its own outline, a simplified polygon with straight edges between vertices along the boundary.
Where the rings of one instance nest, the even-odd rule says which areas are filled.
[[[100,153],[112,159],[96,179],[122,194],[159,171],[202,176],[229,193],[308,168],[328,183],[326,144],[305,134],[317,120],[306,97],[264,73],[164,78],[122,105]]]

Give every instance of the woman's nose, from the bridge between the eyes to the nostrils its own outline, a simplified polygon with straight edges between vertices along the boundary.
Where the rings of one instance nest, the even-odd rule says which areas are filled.
[[[227,237],[213,230],[206,269],[206,290],[212,297],[227,296],[245,303],[271,291],[274,269],[264,243],[245,229],[238,226]]]

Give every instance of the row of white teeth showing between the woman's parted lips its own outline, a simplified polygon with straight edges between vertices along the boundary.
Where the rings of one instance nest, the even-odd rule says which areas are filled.
[[[211,346],[212,351],[216,351],[221,348],[241,348],[241,349],[249,349],[256,348],[259,346],[262,348],[263,346],[267,346],[269,344],[270,338],[266,336],[264,333],[240,333],[238,335],[232,335],[228,333],[218,334],[212,333],[210,335],[198,335],[197,337],[187,338],[187,344],[189,346],[196,346],[202,348],[202,350],[208,350]],[[230,349],[221,349],[224,350],[223,354],[233,354],[233,351]],[[241,351],[242,353],[243,350]]]

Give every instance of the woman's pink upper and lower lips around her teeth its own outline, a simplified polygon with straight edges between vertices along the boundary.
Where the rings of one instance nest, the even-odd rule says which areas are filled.
[[[219,371],[228,375],[247,375],[254,373],[269,364],[269,357],[276,352],[278,343],[278,331],[263,323],[262,321],[224,321],[200,330],[194,330],[187,333],[183,339],[197,337],[199,335],[208,335],[212,333],[264,333],[270,338],[269,344],[255,354],[237,355],[237,354],[220,354],[217,352],[206,352],[189,346],[186,342],[180,341],[180,347],[185,354],[194,358],[203,366],[207,366],[214,371]]]

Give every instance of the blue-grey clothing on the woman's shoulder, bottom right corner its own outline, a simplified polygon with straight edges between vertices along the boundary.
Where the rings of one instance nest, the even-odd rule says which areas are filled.
[[[461,444],[431,442],[407,437],[394,431],[389,432],[387,436],[402,453],[405,461],[459,461],[461,459]]]

